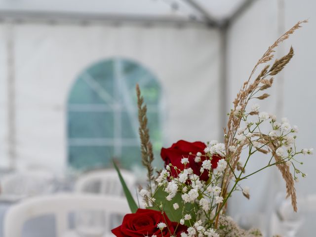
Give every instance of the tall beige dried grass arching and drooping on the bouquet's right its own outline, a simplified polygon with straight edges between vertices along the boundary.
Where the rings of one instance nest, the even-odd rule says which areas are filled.
[[[291,60],[291,58],[294,55],[294,50],[292,47],[290,48],[290,51],[288,54],[286,54],[280,59],[276,59],[276,61],[274,62],[271,68],[270,68],[270,65],[266,65],[263,68],[263,70],[260,72],[258,77],[253,80],[253,82],[250,83],[250,80],[260,64],[267,63],[274,58],[273,53],[275,52],[275,48],[279,45],[279,43],[286,40],[291,34],[294,33],[295,30],[301,27],[302,23],[306,23],[306,22],[307,20],[299,21],[296,25],[294,25],[290,30],[288,30],[285,34],[283,34],[279,39],[277,39],[268,48],[268,50],[263,54],[263,56],[258,60],[257,64],[253,68],[249,76],[249,79],[243,83],[240,91],[237,93],[237,97],[233,102],[234,109],[229,115],[227,128],[224,129],[224,133],[226,134],[226,139],[225,139],[226,152],[228,154],[228,157],[229,157],[228,162],[230,164],[230,166],[226,168],[225,175],[223,176],[225,177],[222,182],[222,195],[224,197],[227,195],[228,185],[234,177],[232,170],[235,170],[236,168],[240,169],[239,158],[240,158],[242,148],[249,145],[249,143],[246,142],[243,145],[237,146],[237,141],[236,139],[234,139],[237,133],[237,129],[240,125],[240,121],[241,121],[241,117],[236,116],[235,111],[238,107],[242,113],[245,110],[245,107],[247,106],[249,100],[252,98],[264,100],[269,97],[269,94],[267,93],[264,93],[257,97],[254,97],[254,95],[272,86],[274,79],[273,78],[266,79],[266,78],[268,76],[275,76],[276,74],[278,74],[285,67],[285,65]],[[256,114],[256,113],[254,112],[253,114]],[[236,146],[237,151],[235,153],[231,153],[228,149],[229,146]],[[267,153],[267,151],[263,149],[261,149],[260,152]],[[270,152],[274,154],[275,149],[271,147]],[[277,168],[280,170],[282,177],[285,180],[287,196],[291,197],[293,209],[294,211],[296,211],[297,210],[296,193],[295,193],[295,188],[294,188],[293,176],[290,173],[289,167],[283,162],[279,162],[280,161],[279,157],[274,155],[274,158],[276,159],[276,162],[277,162],[276,164]],[[244,170],[241,170],[241,171],[244,171]],[[219,209],[221,208],[221,204],[219,204],[218,208]]]

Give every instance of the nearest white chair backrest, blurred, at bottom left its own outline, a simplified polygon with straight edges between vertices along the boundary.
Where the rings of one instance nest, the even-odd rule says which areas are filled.
[[[73,211],[104,210],[106,226],[110,228],[110,215],[125,215],[129,207],[124,197],[93,194],[57,194],[25,199],[11,206],[4,218],[4,237],[21,237],[24,223],[32,218],[53,214],[58,237],[69,230],[68,216]],[[106,233],[110,230],[106,229]]]

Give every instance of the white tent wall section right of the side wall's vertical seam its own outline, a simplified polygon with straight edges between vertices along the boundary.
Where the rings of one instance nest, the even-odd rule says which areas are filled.
[[[291,122],[299,125],[299,147],[316,147],[316,80],[315,80],[315,55],[316,55],[316,2],[302,0],[287,0],[285,4],[285,27],[289,28],[297,20],[309,18],[299,34],[293,35],[286,47],[294,47],[295,56],[289,70],[284,72],[284,115]],[[315,153],[314,153],[315,154]],[[302,158],[302,170],[308,177],[297,183],[296,189],[299,197],[316,194],[316,159],[315,155]],[[304,228],[298,236],[310,237],[315,230],[316,214],[309,213],[304,219]]]

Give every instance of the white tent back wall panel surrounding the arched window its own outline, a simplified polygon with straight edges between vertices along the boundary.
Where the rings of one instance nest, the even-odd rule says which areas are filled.
[[[139,62],[160,80],[166,146],[219,137],[216,30],[21,24],[14,26],[14,40],[19,164],[66,167],[70,88],[82,70],[114,56]]]

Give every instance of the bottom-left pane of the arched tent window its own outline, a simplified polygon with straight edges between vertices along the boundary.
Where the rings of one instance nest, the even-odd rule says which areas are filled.
[[[111,165],[113,147],[110,146],[69,146],[68,160],[72,167],[92,169]]]

